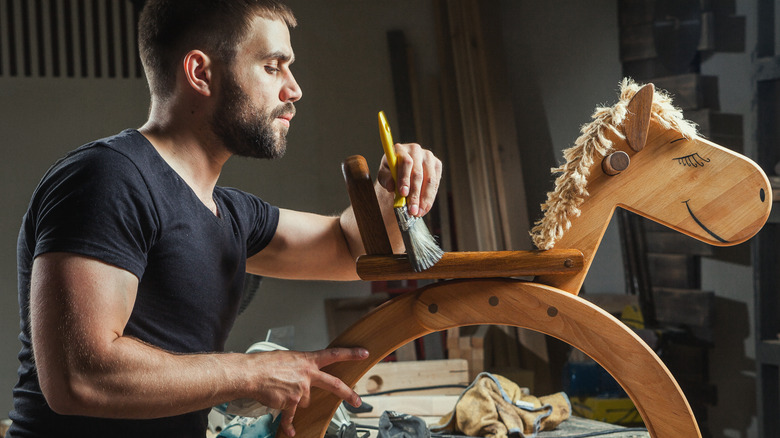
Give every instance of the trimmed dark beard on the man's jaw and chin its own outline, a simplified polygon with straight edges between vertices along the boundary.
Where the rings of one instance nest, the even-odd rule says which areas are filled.
[[[281,158],[287,150],[287,130],[274,130],[277,117],[295,113],[288,102],[268,111],[250,102],[233,75],[227,75],[211,127],[228,151],[250,158]]]

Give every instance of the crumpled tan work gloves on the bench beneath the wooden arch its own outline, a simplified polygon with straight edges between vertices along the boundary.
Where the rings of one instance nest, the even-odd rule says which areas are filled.
[[[541,430],[555,429],[570,415],[571,403],[563,392],[537,398],[506,377],[481,373],[463,391],[455,409],[431,431],[533,438]]]

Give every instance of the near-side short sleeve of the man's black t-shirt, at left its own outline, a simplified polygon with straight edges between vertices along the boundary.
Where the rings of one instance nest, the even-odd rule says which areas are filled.
[[[65,157],[44,177],[30,209],[34,256],[72,252],[143,276],[158,229],[138,168],[99,145]]]

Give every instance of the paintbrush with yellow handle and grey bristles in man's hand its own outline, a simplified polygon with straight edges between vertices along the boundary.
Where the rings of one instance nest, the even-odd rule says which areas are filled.
[[[379,137],[382,139],[382,148],[385,150],[390,173],[393,174],[393,180],[396,182],[393,209],[395,210],[395,218],[398,220],[398,228],[401,229],[401,237],[404,239],[409,263],[412,264],[412,269],[415,272],[424,271],[441,260],[444,251],[439,248],[422,218],[409,214],[406,208],[406,197],[401,196],[398,192],[399,186],[396,173],[395,150],[393,149],[393,136],[390,134],[390,125],[387,124],[383,111],[379,112]]]

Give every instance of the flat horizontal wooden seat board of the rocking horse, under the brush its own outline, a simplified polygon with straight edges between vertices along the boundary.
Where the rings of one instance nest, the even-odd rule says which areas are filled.
[[[433,267],[414,272],[406,255],[364,255],[357,273],[363,280],[523,277],[582,269],[578,250],[445,252]]]

